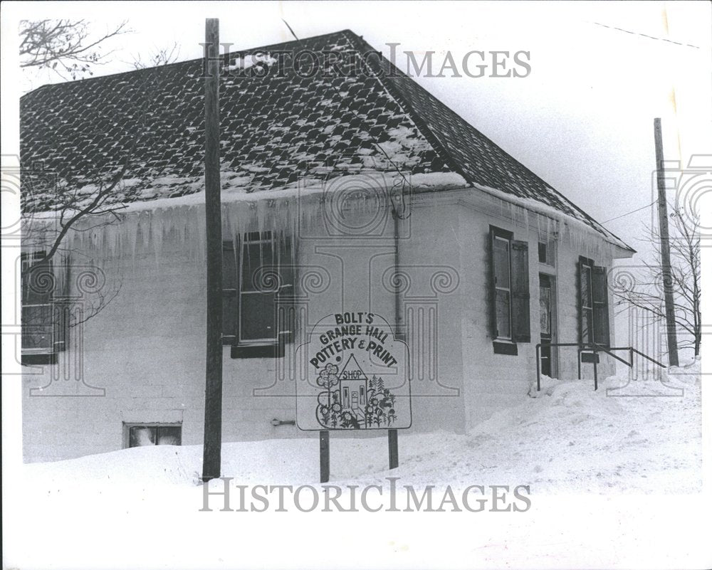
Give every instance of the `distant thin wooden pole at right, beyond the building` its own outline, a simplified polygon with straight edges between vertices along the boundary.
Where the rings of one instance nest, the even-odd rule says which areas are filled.
[[[670,266],[670,233],[668,230],[667,198],[665,194],[665,163],[663,158],[663,135],[660,119],[653,121],[655,132],[656,179],[658,184],[658,225],[660,230],[660,261],[662,265],[663,292],[665,297],[665,320],[667,323],[668,360],[670,366],[679,366],[677,356],[677,332],[675,322],[675,296],[672,287]]]

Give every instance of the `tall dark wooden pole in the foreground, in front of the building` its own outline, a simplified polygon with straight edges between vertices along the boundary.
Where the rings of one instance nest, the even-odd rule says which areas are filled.
[[[207,329],[203,480],[220,477],[222,444],[222,215],[220,207],[219,20],[205,20],[205,247]]]

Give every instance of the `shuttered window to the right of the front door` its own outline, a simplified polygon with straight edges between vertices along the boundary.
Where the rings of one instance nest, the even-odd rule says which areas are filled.
[[[579,258],[579,342],[610,346],[606,270],[593,260]]]

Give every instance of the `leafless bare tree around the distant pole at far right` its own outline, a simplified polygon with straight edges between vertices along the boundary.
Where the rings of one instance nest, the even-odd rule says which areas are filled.
[[[702,313],[700,290],[700,220],[695,213],[689,213],[679,206],[671,214],[670,265],[675,297],[675,322],[687,335],[678,339],[680,348],[693,349],[700,354],[702,342]],[[654,243],[656,258],[660,258],[660,234],[656,228],[648,227],[651,242]],[[661,266],[644,262],[638,278],[633,283],[623,280],[613,284],[616,305],[634,306],[644,310],[654,318],[654,322],[665,321],[663,298],[663,278]]]

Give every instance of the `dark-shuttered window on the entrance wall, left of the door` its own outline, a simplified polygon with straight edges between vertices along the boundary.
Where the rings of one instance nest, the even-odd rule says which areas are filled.
[[[492,337],[495,352],[504,354],[516,351],[503,344],[530,342],[528,243],[512,237],[490,228]]]

